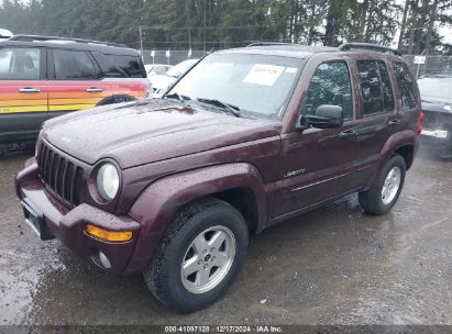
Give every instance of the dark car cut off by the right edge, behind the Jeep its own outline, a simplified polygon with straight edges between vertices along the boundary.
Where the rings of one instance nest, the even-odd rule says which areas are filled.
[[[427,75],[418,80],[422,111],[422,146],[452,157],[452,74]]]

